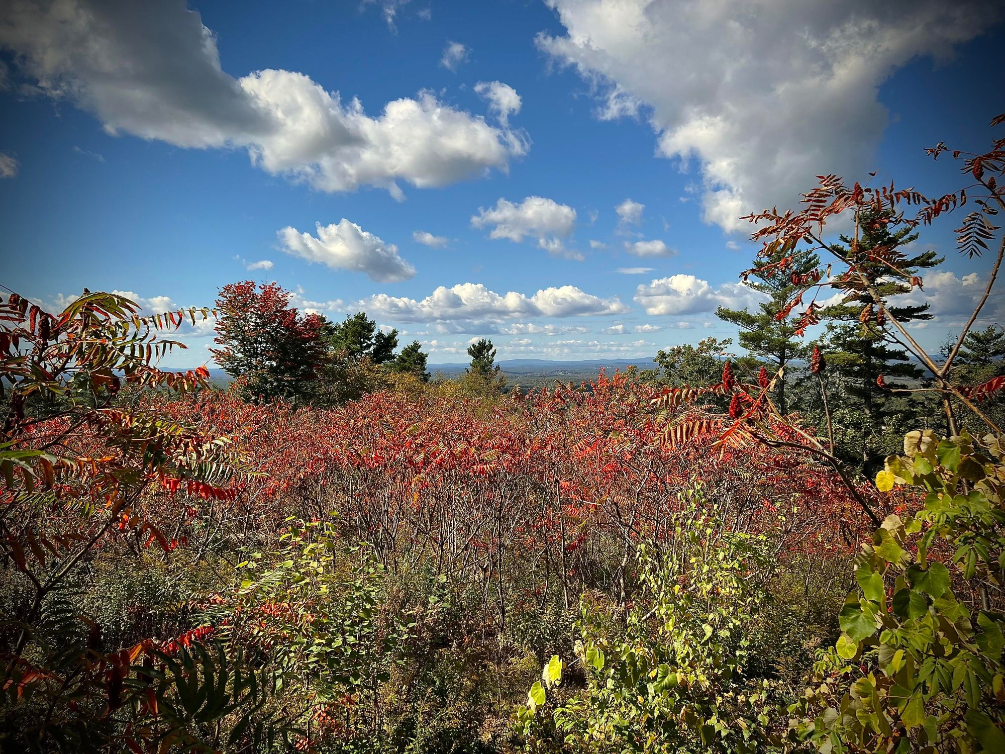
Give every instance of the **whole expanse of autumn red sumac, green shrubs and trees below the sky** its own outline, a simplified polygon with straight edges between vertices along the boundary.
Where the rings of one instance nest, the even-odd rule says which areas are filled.
[[[737,341],[589,379],[274,282],[6,292],[0,747],[1005,751],[1003,129],[751,215]],[[942,223],[991,273],[930,352]],[[158,367],[200,322],[226,380]]]

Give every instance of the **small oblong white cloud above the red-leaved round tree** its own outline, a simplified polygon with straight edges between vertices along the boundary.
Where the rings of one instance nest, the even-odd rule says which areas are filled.
[[[415,274],[415,267],[398,255],[398,247],[385,243],[345,217],[337,223],[317,223],[318,235],[293,227],[278,231],[279,247],[287,254],[333,269],[363,272],[378,282],[398,282]]]

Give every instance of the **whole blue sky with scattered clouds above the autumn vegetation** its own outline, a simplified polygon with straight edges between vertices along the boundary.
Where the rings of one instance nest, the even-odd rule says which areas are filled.
[[[730,337],[716,306],[756,304],[739,214],[821,172],[951,190],[922,149],[981,149],[1005,111],[996,3],[816,5],[5,4],[0,282],[157,309],[274,279],[434,363],[482,335],[640,360]],[[922,238],[949,257],[928,345],[988,266],[954,227]],[[210,336],[183,335],[168,363],[202,363]]]

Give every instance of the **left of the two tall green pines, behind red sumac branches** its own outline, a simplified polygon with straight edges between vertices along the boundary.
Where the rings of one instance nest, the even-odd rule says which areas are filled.
[[[769,297],[768,301],[758,305],[757,312],[726,307],[716,310],[719,319],[740,328],[741,346],[754,356],[768,359],[776,369],[805,356],[806,349],[796,337],[796,324],[789,319],[780,321],[776,315],[786,308],[800,289],[793,285],[793,279],[809,274],[820,264],[816,254],[804,254],[796,256],[793,263],[782,268],[778,262],[785,255],[786,251],[778,250],[773,257],[754,262],[753,277],[756,280],[747,285]],[[775,404],[783,415],[787,410],[785,383],[783,372],[775,393]]]

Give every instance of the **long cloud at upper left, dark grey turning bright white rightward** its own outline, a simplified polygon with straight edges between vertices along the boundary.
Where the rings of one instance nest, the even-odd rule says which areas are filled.
[[[0,47],[38,91],[92,112],[110,134],[188,148],[244,148],[268,173],[323,191],[369,185],[402,197],[506,170],[522,134],[440,103],[429,91],[372,117],[309,76],[264,69],[241,78],[184,0],[9,2]]]

